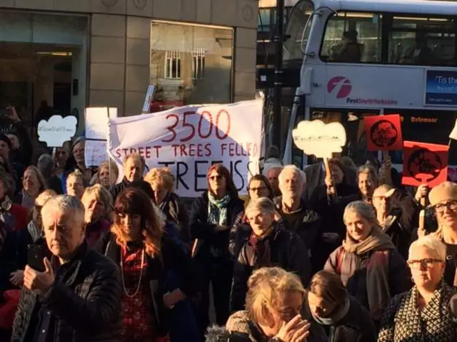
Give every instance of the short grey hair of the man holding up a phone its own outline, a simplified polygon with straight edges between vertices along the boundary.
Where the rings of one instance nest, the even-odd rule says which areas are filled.
[[[41,217],[43,219],[55,212],[62,214],[71,214],[71,217],[81,226],[84,224],[84,205],[79,198],[69,195],[59,195],[52,197],[41,208]]]

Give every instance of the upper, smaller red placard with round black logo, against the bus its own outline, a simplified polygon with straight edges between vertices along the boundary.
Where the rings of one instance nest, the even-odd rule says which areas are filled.
[[[400,115],[365,116],[368,151],[393,151],[403,148]]]

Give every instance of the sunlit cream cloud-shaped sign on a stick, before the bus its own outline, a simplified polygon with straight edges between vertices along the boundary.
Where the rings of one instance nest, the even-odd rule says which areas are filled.
[[[346,144],[346,130],[341,123],[325,124],[321,120],[301,121],[292,137],[300,150],[318,158],[330,158]]]

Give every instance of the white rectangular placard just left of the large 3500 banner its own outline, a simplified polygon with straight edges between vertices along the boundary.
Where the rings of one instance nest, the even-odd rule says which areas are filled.
[[[117,118],[117,108],[86,108],[86,145],[84,159],[86,166],[99,166],[108,160],[108,118]]]

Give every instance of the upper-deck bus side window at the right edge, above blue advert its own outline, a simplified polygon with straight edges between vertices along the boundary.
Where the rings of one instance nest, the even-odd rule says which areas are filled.
[[[389,63],[455,66],[456,31],[451,18],[393,16]]]

